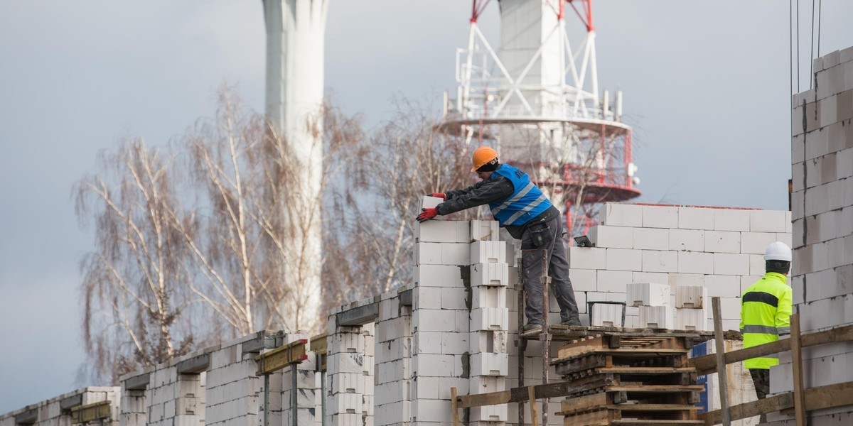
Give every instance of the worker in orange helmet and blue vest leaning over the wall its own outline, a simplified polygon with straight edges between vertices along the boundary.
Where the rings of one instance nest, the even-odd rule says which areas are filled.
[[[471,171],[476,171],[481,181],[465,189],[432,193],[433,197],[444,199],[444,203],[433,209],[423,209],[418,221],[489,204],[492,216],[501,227],[506,227],[510,235],[521,240],[522,274],[527,293],[524,333],[537,334],[543,330],[541,250],[546,250],[548,276],[560,305],[560,324],[581,325],[562,242],[560,210],[551,204],[526,173],[509,164],[501,164],[494,149],[478,147],[472,159]]]

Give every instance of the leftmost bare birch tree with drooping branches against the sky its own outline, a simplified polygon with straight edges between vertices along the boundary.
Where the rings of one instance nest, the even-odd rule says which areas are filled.
[[[83,337],[92,375],[115,383],[138,366],[186,354],[200,333],[188,315],[187,252],[173,222],[186,218],[171,155],[135,139],[99,159],[104,175],[75,187],[78,217],[95,222],[95,250],[80,264]]]

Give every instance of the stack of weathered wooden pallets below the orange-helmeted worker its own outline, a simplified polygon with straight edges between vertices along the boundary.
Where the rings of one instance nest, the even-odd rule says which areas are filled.
[[[704,424],[688,366],[696,337],[614,331],[566,343],[553,364],[572,391],[557,415],[565,426]]]

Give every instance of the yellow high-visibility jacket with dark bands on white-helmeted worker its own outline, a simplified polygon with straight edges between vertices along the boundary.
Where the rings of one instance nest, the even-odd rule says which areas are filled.
[[[750,285],[740,296],[740,332],[744,335],[744,348],[779,340],[791,334],[791,287],[785,275],[769,272]],[[779,365],[779,356],[771,354],[744,361],[747,369],[769,370]]]

